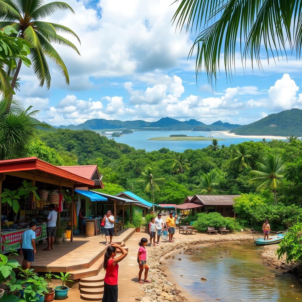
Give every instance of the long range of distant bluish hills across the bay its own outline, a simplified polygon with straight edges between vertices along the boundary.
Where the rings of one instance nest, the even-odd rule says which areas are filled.
[[[86,120],[83,124],[79,125],[69,125],[69,126],[59,126],[56,128],[62,129],[72,129],[72,130],[101,130],[101,129],[144,129],[144,130],[192,130],[194,127],[207,127],[210,131],[219,130],[231,130],[233,128],[239,127],[241,125],[223,123],[222,121],[217,121],[211,125],[204,124],[198,120],[186,120],[184,122],[180,120],[175,120],[170,117],[163,117],[156,122],[146,122],[144,120],[104,120],[104,119],[93,119]]]

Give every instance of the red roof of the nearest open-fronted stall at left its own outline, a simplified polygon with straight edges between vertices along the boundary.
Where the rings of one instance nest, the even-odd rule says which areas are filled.
[[[54,165],[51,165],[47,162],[43,162],[37,157],[7,159],[0,161],[0,173],[29,170],[39,170],[65,179],[72,180],[74,182],[79,182],[81,184],[89,186],[94,185],[94,181],[88,178],[81,177]]]

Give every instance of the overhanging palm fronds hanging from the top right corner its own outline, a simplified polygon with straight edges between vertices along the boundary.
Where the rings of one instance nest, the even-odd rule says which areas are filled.
[[[232,77],[240,48],[243,66],[252,58],[261,69],[262,52],[267,61],[297,53],[302,46],[301,1],[267,0],[180,0],[172,18],[180,30],[196,34],[190,55],[196,56],[196,77],[207,73],[209,82],[217,79],[219,63],[224,61],[227,77]],[[174,2],[174,3],[175,3]],[[202,29],[201,29],[202,28]],[[199,33],[199,31],[201,31]],[[192,33],[193,32],[193,33]],[[190,56],[189,55],[189,56]],[[221,64],[221,63],[220,63]]]

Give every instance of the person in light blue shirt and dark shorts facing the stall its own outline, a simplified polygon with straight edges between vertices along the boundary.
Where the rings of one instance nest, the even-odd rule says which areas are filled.
[[[34,262],[34,255],[36,254],[36,223],[29,223],[29,230],[26,230],[21,238],[21,250],[24,260],[22,261],[22,268],[31,268],[31,262]]]

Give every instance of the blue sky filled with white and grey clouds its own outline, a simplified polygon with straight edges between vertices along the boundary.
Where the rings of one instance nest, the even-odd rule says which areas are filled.
[[[50,1],[47,1],[50,2]],[[86,120],[196,119],[249,124],[268,114],[302,109],[302,62],[295,58],[270,64],[263,70],[242,68],[236,56],[236,74],[224,70],[213,89],[207,75],[196,81],[195,60],[188,60],[194,35],[171,23],[173,0],[65,0],[75,11],[60,11],[47,21],[71,28],[78,48],[53,45],[67,66],[70,85],[49,62],[51,87],[39,87],[31,68],[22,66],[18,100],[40,110],[37,118],[51,125],[81,124]],[[263,52],[263,57],[265,53]]]

